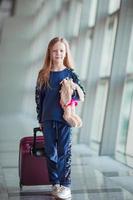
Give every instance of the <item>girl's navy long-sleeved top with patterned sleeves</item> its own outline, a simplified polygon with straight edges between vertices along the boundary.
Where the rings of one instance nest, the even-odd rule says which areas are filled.
[[[59,91],[61,89],[60,82],[67,77],[72,78],[73,82],[77,83],[84,92],[78,75],[70,68],[65,68],[62,71],[51,71],[49,77],[50,87],[42,86],[40,88],[38,83],[36,84],[35,101],[39,123],[43,123],[45,120],[57,120],[66,123],[63,119],[64,111],[60,105]],[[74,91],[73,98],[79,99],[77,91]]]

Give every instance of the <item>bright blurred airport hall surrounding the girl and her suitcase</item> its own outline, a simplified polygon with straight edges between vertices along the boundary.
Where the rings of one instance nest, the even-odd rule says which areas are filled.
[[[133,200],[133,0],[0,0],[0,200],[52,200],[19,185],[20,139],[38,126],[37,74],[65,37],[85,88],[72,133],[72,200]]]

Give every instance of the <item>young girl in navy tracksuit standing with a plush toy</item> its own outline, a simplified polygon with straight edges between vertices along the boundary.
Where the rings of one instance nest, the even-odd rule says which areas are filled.
[[[35,100],[37,118],[45,137],[52,194],[58,198],[71,197],[72,144],[71,127],[63,119],[60,105],[60,83],[65,78],[72,78],[76,99],[79,88],[84,92],[73,67],[68,42],[64,38],[53,38],[48,44],[44,65],[38,74]]]

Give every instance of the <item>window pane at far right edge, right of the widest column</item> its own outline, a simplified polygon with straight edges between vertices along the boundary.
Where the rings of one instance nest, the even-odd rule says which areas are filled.
[[[122,98],[116,150],[133,157],[133,28],[129,43],[126,80]]]

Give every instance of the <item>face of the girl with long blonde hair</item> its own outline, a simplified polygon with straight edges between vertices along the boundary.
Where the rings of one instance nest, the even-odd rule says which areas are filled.
[[[66,47],[63,42],[57,42],[51,49],[51,59],[53,64],[63,64],[63,60],[66,56]]]

